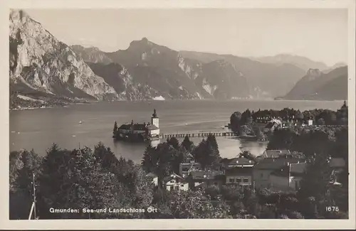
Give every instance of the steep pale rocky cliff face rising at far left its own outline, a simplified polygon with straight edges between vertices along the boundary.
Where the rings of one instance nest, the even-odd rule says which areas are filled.
[[[117,98],[114,88],[95,75],[80,55],[25,12],[11,10],[9,21],[12,90],[26,89],[33,97]]]

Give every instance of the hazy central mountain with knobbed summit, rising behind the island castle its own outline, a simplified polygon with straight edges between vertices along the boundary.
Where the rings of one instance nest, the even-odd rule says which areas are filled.
[[[183,58],[176,50],[152,43],[147,38],[132,41],[126,50],[106,55],[125,66],[135,82],[152,87],[166,99],[250,97],[246,79],[233,65]],[[88,55],[83,55],[84,59],[86,57]],[[216,70],[212,71],[209,66]],[[229,74],[226,76],[226,73]]]

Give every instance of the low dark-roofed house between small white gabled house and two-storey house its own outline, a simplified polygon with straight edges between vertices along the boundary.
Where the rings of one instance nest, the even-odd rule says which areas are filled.
[[[203,189],[209,186],[221,188],[225,182],[225,176],[222,171],[216,170],[193,170],[189,172],[189,188]]]

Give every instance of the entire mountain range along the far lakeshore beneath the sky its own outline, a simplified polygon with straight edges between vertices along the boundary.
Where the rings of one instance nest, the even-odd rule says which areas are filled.
[[[308,93],[298,87],[308,79],[306,70],[306,76],[313,75],[310,68],[328,70],[299,56],[253,59],[177,51],[147,38],[107,53],[66,45],[21,10],[11,10],[9,21],[11,92],[31,100],[298,99]],[[341,76],[330,81],[320,82],[325,89],[345,87]],[[339,97],[315,86],[311,95]]]

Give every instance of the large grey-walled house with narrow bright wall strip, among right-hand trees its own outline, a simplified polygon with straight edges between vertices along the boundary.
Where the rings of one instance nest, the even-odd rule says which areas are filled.
[[[271,190],[296,191],[300,188],[300,181],[307,167],[307,163],[288,163],[287,166],[273,171],[270,178]]]

